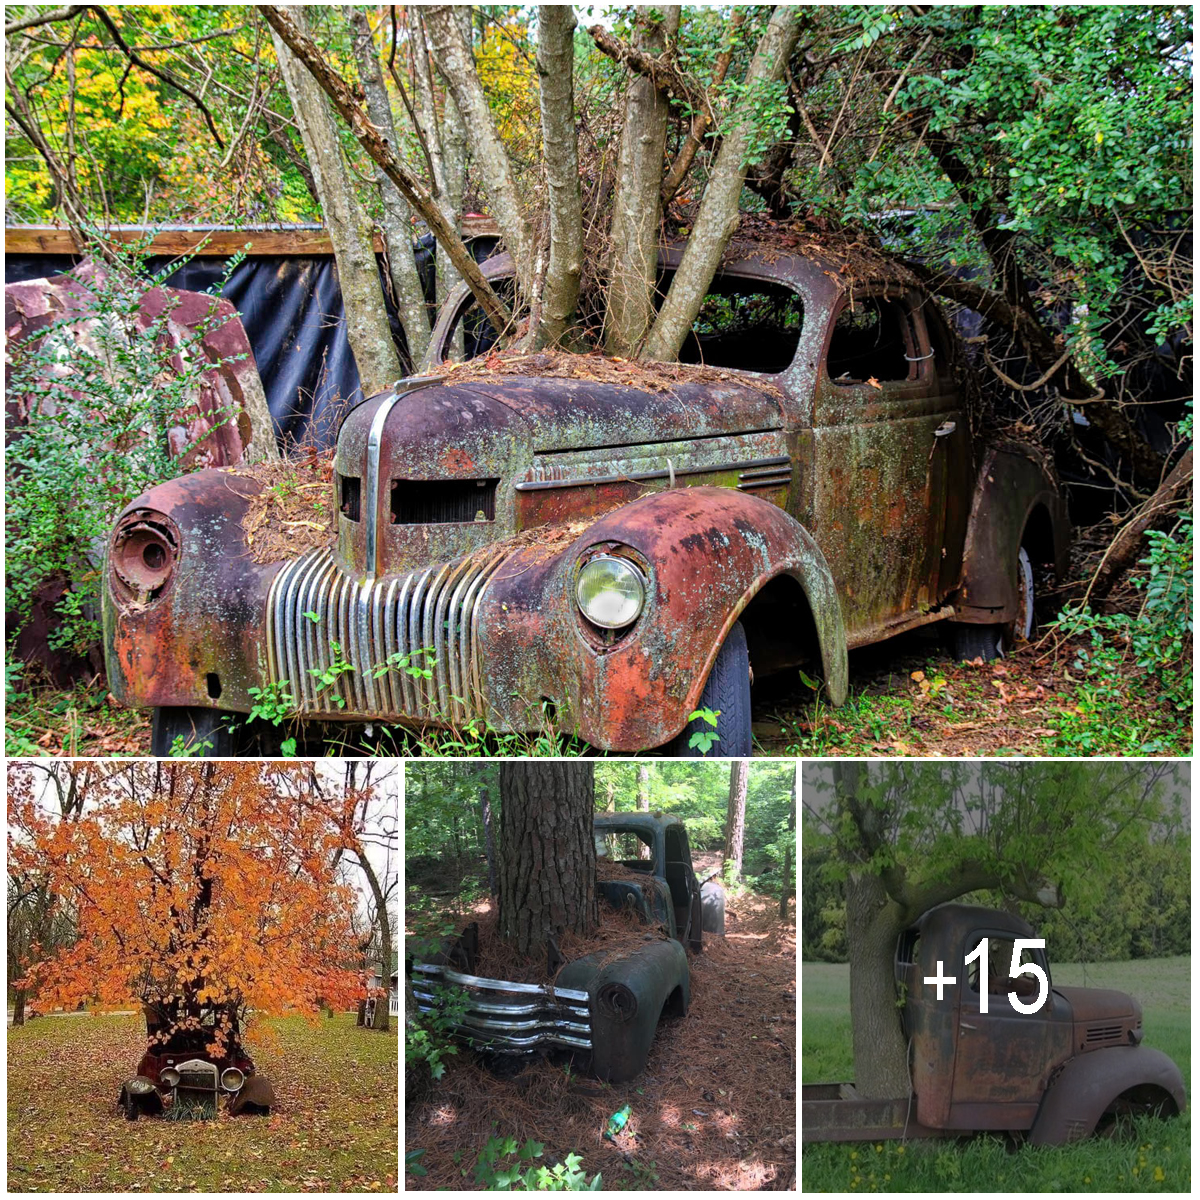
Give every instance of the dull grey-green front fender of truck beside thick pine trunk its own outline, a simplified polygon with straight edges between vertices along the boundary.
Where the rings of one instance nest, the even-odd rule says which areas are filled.
[[[599,950],[569,962],[556,986],[589,995],[592,1070],[622,1084],[646,1069],[660,1015],[683,1016],[691,1003],[688,952],[674,940],[652,938],[616,960]]]

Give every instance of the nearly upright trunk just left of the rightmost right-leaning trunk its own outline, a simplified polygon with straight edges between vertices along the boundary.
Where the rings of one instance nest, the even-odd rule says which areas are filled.
[[[679,5],[637,10],[635,49],[659,55],[678,32]],[[612,202],[604,343],[619,358],[637,353],[654,319],[668,114],[667,96],[653,79],[640,74],[629,80]]]

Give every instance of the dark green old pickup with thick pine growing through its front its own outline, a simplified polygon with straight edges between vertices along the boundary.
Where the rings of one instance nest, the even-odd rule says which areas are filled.
[[[553,983],[536,984],[478,977],[473,924],[456,938],[410,946],[406,973],[422,1013],[445,1003],[439,989],[466,994],[456,1034],[473,1048],[506,1058],[574,1054],[599,1079],[623,1082],[646,1068],[662,1018],[688,1014],[688,950],[701,953],[704,934],[724,935],[725,896],[719,883],[697,883],[678,817],[598,816],[594,835],[598,862],[624,868],[622,877],[598,875],[598,894],[659,932],[631,949],[586,954],[562,965]]]

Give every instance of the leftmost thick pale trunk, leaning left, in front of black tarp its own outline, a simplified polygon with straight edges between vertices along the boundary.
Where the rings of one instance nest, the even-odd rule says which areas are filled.
[[[307,37],[304,7],[294,7],[289,13],[295,28]],[[274,25],[271,41],[275,43],[280,71],[320,196],[320,211],[329,240],[334,246],[337,282],[346,310],[346,334],[359,368],[362,395],[372,396],[389,388],[403,373],[388,324],[388,307],[374,257],[373,230],[354,194],[354,186],[342,158],[342,148],[337,142],[334,116],[320,86]]]

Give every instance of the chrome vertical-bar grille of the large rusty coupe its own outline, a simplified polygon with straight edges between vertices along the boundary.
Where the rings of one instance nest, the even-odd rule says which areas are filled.
[[[271,582],[271,683],[287,680],[300,713],[450,724],[485,716],[475,616],[504,557],[490,548],[359,582],[337,565],[332,550],[310,551]],[[428,670],[430,678],[414,677],[406,666]],[[335,678],[323,684],[322,672]]]

